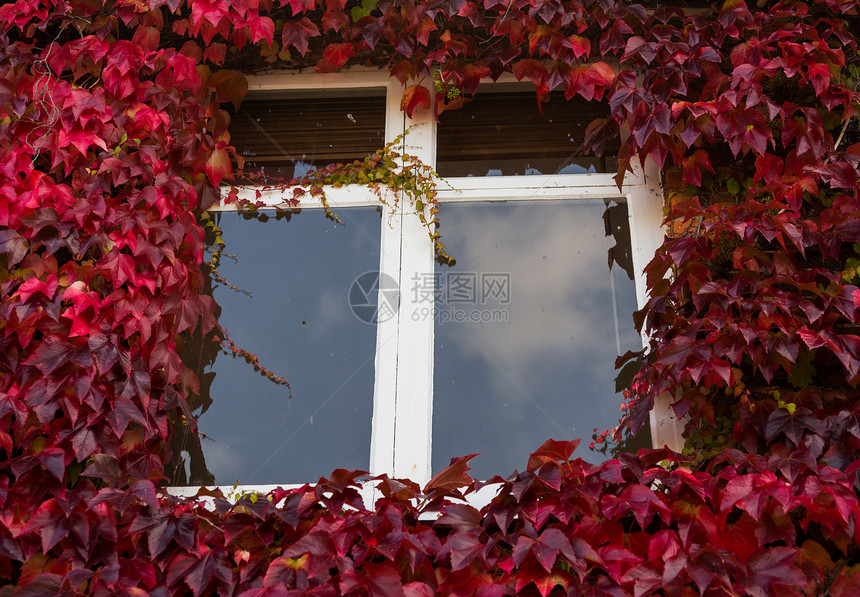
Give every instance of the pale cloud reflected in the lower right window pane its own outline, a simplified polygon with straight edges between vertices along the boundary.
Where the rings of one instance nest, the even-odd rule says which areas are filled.
[[[444,220],[446,234],[463,239],[460,247],[473,269],[511,273],[509,321],[456,326],[453,334],[461,340],[476,335],[490,356],[520,379],[538,376],[540,361],[559,350],[573,349],[578,358],[599,359],[594,345],[615,337],[611,318],[594,317],[595,308],[610,295],[606,251],[612,240],[604,236],[603,221],[555,214],[547,220],[517,218],[505,224],[507,217],[482,215],[482,230],[499,231],[489,239],[475,230],[467,232],[468,221]],[[628,327],[632,329],[632,320]]]

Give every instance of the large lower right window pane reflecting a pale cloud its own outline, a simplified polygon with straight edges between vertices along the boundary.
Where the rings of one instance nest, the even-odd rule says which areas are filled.
[[[602,200],[443,206],[443,242],[457,265],[437,269],[448,288],[435,326],[434,471],[483,452],[471,474],[507,475],[549,438],[582,438],[577,456],[603,458],[588,444],[594,428],[618,423],[615,358],[641,347],[634,283],[608,267],[615,240],[605,211]],[[611,224],[629,236],[626,209],[613,211]],[[476,274],[473,303],[444,298],[458,272]],[[510,275],[508,304],[482,304],[488,274]],[[456,311],[493,321],[454,323]]]

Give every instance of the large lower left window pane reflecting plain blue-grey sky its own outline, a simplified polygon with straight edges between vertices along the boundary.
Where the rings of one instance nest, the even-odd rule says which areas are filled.
[[[353,280],[379,269],[373,208],[342,209],[346,226],[317,210],[262,223],[222,214],[227,251],[214,295],[237,346],[289,381],[275,386],[243,360],[219,354],[212,405],[199,419],[218,484],[296,483],[335,468],[367,469],[376,328],[350,311]]]

